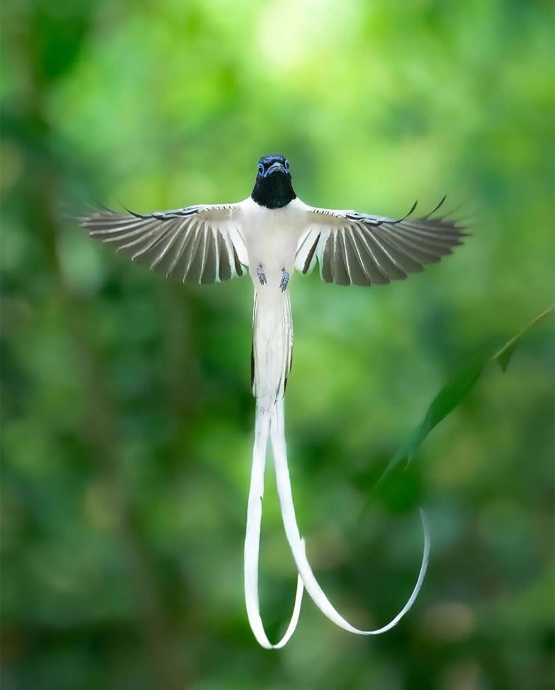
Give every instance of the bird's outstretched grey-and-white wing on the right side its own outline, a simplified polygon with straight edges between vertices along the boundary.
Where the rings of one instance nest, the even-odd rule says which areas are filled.
[[[300,237],[295,268],[308,273],[316,258],[321,277],[339,285],[377,285],[402,280],[427,263],[451,254],[468,235],[466,228],[445,216],[406,216],[394,220],[356,211],[332,211],[307,206],[309,223]]]

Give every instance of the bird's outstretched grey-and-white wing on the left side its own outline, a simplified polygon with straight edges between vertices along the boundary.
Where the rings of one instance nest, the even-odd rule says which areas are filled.
[[[184,283],[215,283],[244,274],[247,252],[237,204],[187,206],[160,213],[114,213],[78,217],[89,236],[116,247]]]

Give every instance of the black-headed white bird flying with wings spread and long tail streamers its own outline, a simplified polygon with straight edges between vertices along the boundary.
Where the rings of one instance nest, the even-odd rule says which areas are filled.
[[[402,280],[436,263],[463,243],[468,228],[433,211],[413,217],[416,203],[399,218],[352,210],[318,208],[293,190],[289,161],[268,154],[258,161],[255,186],[240,202],[198,204],[172,211],[136,213],[103,207],[78,216],[89,236],[146,263],[153,271],[185,284],[210,284],[248,272],[253,283],[251,384],[255,434],[244,545],[244,589],[248,621],[257,642],[276,649],[286,644],[307,591],[327,618],[348,632],[381,634],[407,613],[420,591],[429,559],[429,530],[420,511],[424,548],[414,589],[393,620],[377,630],[359,630],[339,614],[316,580],[298,529],[287,464],[284,394],[291,374],[293,318],[289,297],[293,272],[308,274],[316,263],[326,283],[375,286]],[[291,621],[271,643],[259,611],[258,557],[264,470],[271,445],[287,541],[298,570]]]

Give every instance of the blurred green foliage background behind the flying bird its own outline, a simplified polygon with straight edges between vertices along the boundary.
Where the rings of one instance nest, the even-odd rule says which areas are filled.
[[[18,0],[1,57],[2,688],[552,687],[554,331],[490,367],[409,473],[375,479],[461,362],[554,295],[553,8],[524,0]],[[259,156],[309,204],[475,211],[454,256],[373,289],[291,286],[289,459],[347,634],[307,598],[280,652],[243,601],[247,278],[187,287],[60,220],[235,201]],[[271,477],[262,614],[295,568]]]

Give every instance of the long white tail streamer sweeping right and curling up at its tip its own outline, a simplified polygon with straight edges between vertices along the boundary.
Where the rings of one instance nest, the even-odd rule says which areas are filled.
[[[299,534],[295,516],[295,507],[293,506],[293,495],[291,493],[291,479],[289,478],[289,468],[287,467],[283,399],[278,400],[278,402],[275,403],[271,415],[270,433],[275,467],[275,479],[278,485],[278,495],[282,509],[283,525],[285,528],[287,541],[289,541],[291,552],[293,552],[293,558],[295,559],[299,575],[302,577],[302,583],[305,585],[307,593],[309,593],[310,597],[312,600],[314,600],[314,603],[322,611],[322,613],[327,616],[327,618],[330,618],[330,621],[333,621],[333,623],[343,628],[343,630],[347,630],[348,632],[353,632],[359,635],[379,635],[387,630],[391,630],[391,628],[397,625],[404,614],[406,614],[413,605],[426,574],[430,541],[427,519],[424,511],[420,509],[420,519],[422,520],[422,529],[424,531],[424,552],[422,555],[422,565],[420,566],[418,580],[416,580],[416,585],[414,586],[409,600],[392,621],[390,621],[387,625],[384,625],[384,627],[378,628],[377,630],[359,630],[357,627],[350,625],[350,623],[345,621],[345,618],[343,618],[343,616],[341,616],[338,611],[334,609],[332,603],[323,592],[321,586],[318,584],[318,581],[316,580],[316,577],[314,576],[307,559],[305,541],[301,539]]]

